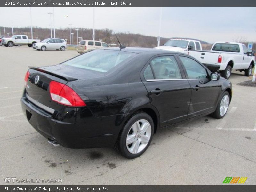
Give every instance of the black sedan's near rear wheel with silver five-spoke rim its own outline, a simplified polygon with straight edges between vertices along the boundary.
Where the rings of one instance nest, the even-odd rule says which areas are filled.
[[[153,134],[152,118],[144,112],[135,113],[125,123],[114,148],[128,159],[139,157],[147,150]]]

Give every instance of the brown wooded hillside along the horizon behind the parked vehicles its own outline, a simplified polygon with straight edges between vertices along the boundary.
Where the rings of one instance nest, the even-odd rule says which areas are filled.
[[[83,39],[92,39],[92,29],[88,28],[78,28],[78,37],[83,37]],[[1,35],[4,35],[4,28],[0,26]],[[30,27],[23,28],[13,28],[14,34],[24,34],[31,38],[31,29]],[[12,28],[6,27],[5,34],[10,33],[12,35]],[[55,29],[56,37],[62,39],[68,39],[68,44],[70,44],[70,28],[60,28]],[[72,29],[72,33],[74,33],[74,44],[76,44],[77,32],[75,28]],[[53,30],[52,30],[53,35]],[[154,36],[145,36],[141,34],[134,33],[116,33],[120,42],[129,47],[156,47],[157,46],[157,38]],[[51,37],[49,28],[40,28],[33,27],[33,37],[43,40]],[[174,37],[173,37],[174,38]],[[113,30],[111,29],[95,29],[95,39],[102,39],[106,43],[118,43],[116,37],[113,36]],[[171,38],[161,38],[160,45],[164,44],[167,40]],[[192,39],[192,38],[189,38]],[[197,39],[196,39],[197,40]],[[202,44],[208,44],[205,41],[199,40]]]

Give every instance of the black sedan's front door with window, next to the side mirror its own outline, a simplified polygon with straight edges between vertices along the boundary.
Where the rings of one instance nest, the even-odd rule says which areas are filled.
[[[188,118],[213,111],[220,92],[218,81],[211,81],[206,68],[196,60],[184,55],[179,58],[191,86]]]

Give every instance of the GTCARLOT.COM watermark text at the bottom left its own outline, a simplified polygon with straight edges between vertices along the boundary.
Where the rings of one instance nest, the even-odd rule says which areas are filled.
[[[16,177],[6,177],[6,183],[62,183],[62,179],[21,179]]]

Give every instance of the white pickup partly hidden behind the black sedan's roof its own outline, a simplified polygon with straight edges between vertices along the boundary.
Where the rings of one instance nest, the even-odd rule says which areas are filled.
[[[188,53],[189,50],[202,50],[202,45],[200,41],[192,39],[170,39],[163,46],[155,47],[154,49]]]

